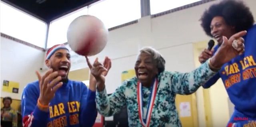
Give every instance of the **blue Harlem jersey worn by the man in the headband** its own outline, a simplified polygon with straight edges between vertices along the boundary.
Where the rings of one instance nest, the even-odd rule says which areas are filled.
[[[24,127],[92,127],[97,116],[95,93],[82,82],[68,80],[44,112],[37,106],[38,81],[29,83],[22,93]]]

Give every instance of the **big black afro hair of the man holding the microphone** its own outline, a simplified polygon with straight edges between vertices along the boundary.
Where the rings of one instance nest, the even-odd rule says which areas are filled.
[[[218,4],[213,4],[204,12],[201,17],[201,26],[208,36],[212,37],[210,24],[215,16],[222,16],[229,26],[234,26],[236,32],[248,30],[254,24],[254,19],[250,8],[242,1],[223,0]]]

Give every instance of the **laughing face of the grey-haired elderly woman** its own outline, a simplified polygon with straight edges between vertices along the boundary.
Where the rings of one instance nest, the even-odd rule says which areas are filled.
[[[134,69],[138,80],[144,86],[150,86],[158,74],[156,61],[152,55],[144,52],[139,54]]]

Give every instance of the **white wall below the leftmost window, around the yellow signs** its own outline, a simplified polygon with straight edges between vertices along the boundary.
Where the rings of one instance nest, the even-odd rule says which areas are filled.
[[[10,96],[13,99],[21,99],[24,86],[37,80],[36,70],[42,67],[44,52],[1,37],[1,97]],[[2,91],[3,80],[20,83],[18,93]]]

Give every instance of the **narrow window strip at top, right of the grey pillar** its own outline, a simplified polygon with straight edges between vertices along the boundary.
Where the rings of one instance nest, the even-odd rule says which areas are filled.
[[[150,12],[157,14],[198,1],[201,0],[150,0]]]

